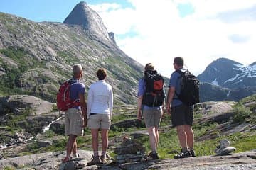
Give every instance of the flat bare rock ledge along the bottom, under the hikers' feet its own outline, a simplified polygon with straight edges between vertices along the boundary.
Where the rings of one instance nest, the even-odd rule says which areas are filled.
[[[80,169],[108,169],[108,170],[142,170],[142,169],[188,169],[188,170],[217,170],[217,169],[255,169],[256,151],[240,152],[227,156],[204,156],[190,157],[184,159],[159,159],[156,161],[146,162],[126,162],[110,164],[100,164],[98,166],[85,166],[90,161],[92,152],[78,150],[80,159],[75,159],[70,167],[74,164],[80,165]],[[23,157],[0,160],[0,169],[4,167],[13,167],[19,169],[26,166],[26,169],[60,169],[63,167],[61,160],[65,157],[65,152],[48,152],[43,154],[31,154]],[[64,164],[65,167],[66,164]],[[75,168],[74,168],[75,169]]]

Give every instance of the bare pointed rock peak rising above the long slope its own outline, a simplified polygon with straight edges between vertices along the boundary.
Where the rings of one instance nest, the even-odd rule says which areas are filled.
[[[102,18],[84,1],[81,1],[73,8],[73,11],[65,18],[63,23],[82,26],[90,35],[110,41]]]

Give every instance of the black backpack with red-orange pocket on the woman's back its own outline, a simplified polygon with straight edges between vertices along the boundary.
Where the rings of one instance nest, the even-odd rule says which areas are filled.
[[[161,106],[164,103],[164,78],[156,70],[145,72],[144,81],[146,92],[143,95],[142,104],[146,106]]]

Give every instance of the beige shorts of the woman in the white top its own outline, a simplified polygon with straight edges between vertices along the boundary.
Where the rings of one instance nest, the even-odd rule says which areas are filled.
[[[88,119],[88,128],[110,130],[111,119],[108,114],[90,115]]]

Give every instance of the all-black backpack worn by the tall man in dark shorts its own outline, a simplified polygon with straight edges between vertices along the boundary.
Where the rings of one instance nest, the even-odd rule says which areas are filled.
[[[181,93],[177,94],[175,91],[178,99],[187,106],[199,103],[199,81],[196,76],[191,74],[188,70],[182,72],[180,69],[177,69],[175,72],[181,74]]]

